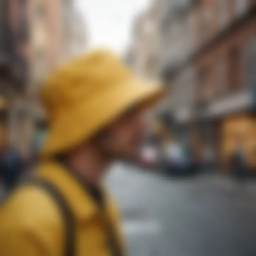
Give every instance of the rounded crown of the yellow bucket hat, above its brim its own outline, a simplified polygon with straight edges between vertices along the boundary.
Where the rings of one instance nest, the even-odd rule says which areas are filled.
[[[130,76],[123,62],[107,50],[81,55],[53,71],[43,87],[43,104],[51,116],[60,108],[82,103],[121,85]]]

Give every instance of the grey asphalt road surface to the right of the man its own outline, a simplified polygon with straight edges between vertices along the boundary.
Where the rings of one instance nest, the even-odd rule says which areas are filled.
[[[177,179],[116,164],[107,177],[130,256],[255,256],[256,183]]]

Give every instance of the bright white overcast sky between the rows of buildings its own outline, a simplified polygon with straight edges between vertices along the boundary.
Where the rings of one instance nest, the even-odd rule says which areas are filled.
[[[86,19],[90,47],[106,46],[122,54],[130,40],[134,17],[149,0],[76,0]]]

